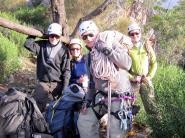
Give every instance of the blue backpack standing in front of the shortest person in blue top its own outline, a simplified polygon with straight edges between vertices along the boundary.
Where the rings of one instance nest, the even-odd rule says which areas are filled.
[[[77,118],[85,96],[77,84],[69,85],[62,97],[47,107],[45,118],[51,134],[57,138],[78,138]]]

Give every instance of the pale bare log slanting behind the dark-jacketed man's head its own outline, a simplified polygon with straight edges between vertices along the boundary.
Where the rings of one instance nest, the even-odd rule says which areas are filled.
[[[14,30],[16,32],[25,34],[25,35],[33,35],[33,36],[37,36],[40,38],[46,38],[46,35],[44,35],[41,31],[31,28],[31,27],[27,27],[27,26],[23,26],[14,22],[11,22],[9,20],[3,19],[0,17],[0,26],[4,27],[4,28],[8,28],[11,30]],[[64,43],[69,43],[69,38],[68,37],[61,37],[62,42]]]

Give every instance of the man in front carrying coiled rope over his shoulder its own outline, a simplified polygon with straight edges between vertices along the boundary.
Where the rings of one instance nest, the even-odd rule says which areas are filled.
[[[121,123],[125,118],[119,116],[118,112],[126,113],[121,106],[123,98],[120,97],[125,93],[131,94],[128,70],[132,62],[127,49],[122,45],[131,46],[130,38],[117,31],[100,32],[92,20],[83,21],[80,24],[79,35],[90,50],[86,61],[90,72],[90,85],[77,123],[80,137],[100,137],[98,122],[107,114],[107,106],[109,106],[107,93],[111,88],[112,98],[116,101],[111,105],[110,137],[123,138],[128,124],[124,126]],[[115,72],[111,72],[110,68]],[[114,75],[109,76],[109,73]],[[109,80],[111,80],[110,86]]]

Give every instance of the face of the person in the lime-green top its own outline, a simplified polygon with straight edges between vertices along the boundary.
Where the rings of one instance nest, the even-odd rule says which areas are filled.
[[[140,30],[133,30],[129,32],[129,36],[131,38],[132,43],[138,43],[141,40],[141,32]]]

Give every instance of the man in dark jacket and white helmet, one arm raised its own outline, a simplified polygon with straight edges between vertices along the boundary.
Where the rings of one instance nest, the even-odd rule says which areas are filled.
[[[52,23],[47,29],[48,39],[35,41],[28,36],[24,47],[37,55],[37,79],[34,98],[41,112],[46,104],[62,95],[70,79],[70,55],[61,42],[62,27]]]

